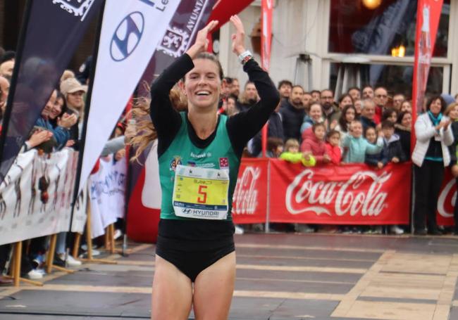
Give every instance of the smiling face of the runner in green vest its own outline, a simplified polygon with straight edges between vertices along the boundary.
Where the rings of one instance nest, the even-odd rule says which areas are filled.
[[[188,105],[197,108],[217,108],[221,93],[218,65],[209,59],[195,59],[194,69],[185,76],[184,91]]]

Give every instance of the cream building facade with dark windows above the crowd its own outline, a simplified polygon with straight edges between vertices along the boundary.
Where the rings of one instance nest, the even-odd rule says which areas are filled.
[[[336,96],[349,87],[371,84],[409,97],[416,5],[414,0],[276,0],[271,77],[276,83],[290,79],[306,91],[330,88]],[[240,13],[247,34],[253,33],[260,15],[260,1]],[[458,0],[445,0],[428,78],[429,93],[458,93],[455,17]],[[232,32],[229,24],[221,28],[219,56],[225,73],[245,83],[247,77],[230,52]],[[250,50],[256,41],[248,41]]]

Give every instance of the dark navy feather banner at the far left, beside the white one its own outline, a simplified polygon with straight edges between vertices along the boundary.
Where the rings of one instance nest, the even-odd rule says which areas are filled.
[[[102,0],[27,3],[0,134],[0,182],[102,3]]]

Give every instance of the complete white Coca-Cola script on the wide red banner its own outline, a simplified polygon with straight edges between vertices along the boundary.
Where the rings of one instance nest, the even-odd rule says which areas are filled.
[[[388,193],[382,188],[390,177],[391,172],[362,171],[347,181],[314,181],[314,171],[305,169],[287,187],[285,205],[292,215],[314,212],[331,216],[329,207],[334,203],[335,215],[339,217],[378,216],[387,206]]]

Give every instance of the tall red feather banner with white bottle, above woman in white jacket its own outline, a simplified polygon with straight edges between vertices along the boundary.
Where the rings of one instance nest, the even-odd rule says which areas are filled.
[[[416,37],[414,82],[412,84],[412,126],[416,115],[421,112],[425,98],[428,73],[433,56],[435,36],[438,32],[440,12],[443,0],[418,0],[416,10]],[[412,129],[412,150],[415,146],[415,134]]]

